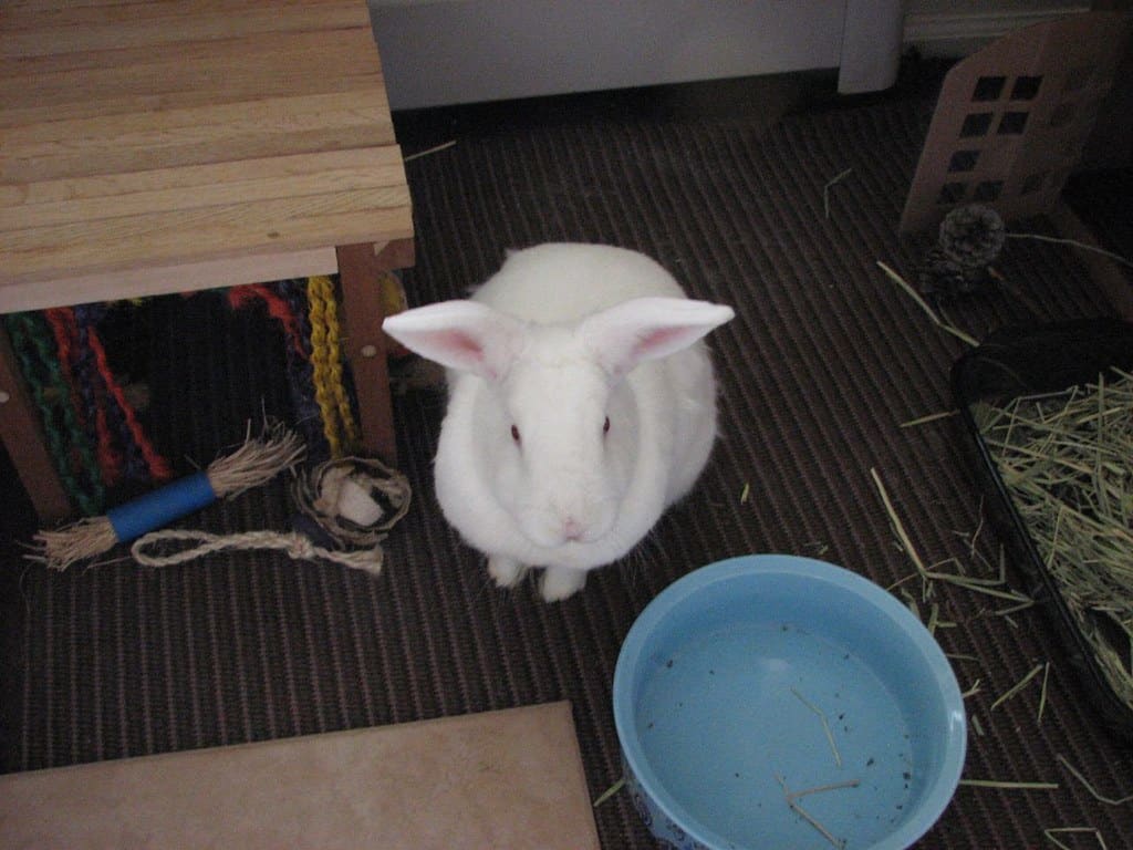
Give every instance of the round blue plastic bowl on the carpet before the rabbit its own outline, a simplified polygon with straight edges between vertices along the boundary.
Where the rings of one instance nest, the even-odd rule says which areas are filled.
[[[614,722],[653,834],[712,850],[908,848],[952,800],[968,741],[920,621],[793,555],[719,561],[649,603],[617,657]],[[794,798],[806,814],[789,805],[827,785]]]

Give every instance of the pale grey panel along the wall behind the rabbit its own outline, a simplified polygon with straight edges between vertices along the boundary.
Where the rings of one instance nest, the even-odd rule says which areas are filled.
[[[391,105],[410,109],[840,66],[885,87],[903,0],[369,2]],[[847,22],[868,51],[844,54]]]

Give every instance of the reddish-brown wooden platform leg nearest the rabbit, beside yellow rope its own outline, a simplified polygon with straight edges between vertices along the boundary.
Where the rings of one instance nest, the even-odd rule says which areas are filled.
[[[398,240],[377,250],[373,244],[337,248],[342,284],[342,321],[347,362],[353,373],[361,419],[363,449],[397,466],[398,448],[390,400],[390,372],[382,321],[382,272],[412,265],[411,240]]]

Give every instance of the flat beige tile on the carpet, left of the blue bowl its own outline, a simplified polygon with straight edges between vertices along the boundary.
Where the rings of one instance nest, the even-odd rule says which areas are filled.
[[[598,850],[590,793],[566,702],[0,776],[6,847],[84,850]]]

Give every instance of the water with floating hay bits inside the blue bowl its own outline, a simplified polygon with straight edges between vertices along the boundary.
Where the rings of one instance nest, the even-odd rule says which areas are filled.
[[[854,850],[902,822],[919,789],[910,729],[847,647],[791,622],[732,623],[650,664],[636,712],[646,758],[724,847],[828,849],[833,838]],[[796,800],[829,836],[787,805],[786,790],[847,782]]]

